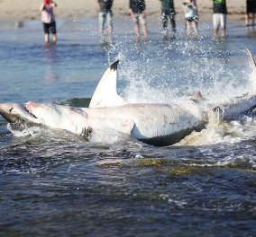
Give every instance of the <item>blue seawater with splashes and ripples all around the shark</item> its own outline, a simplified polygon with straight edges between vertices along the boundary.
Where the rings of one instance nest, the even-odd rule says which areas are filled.
[[[106,67],[120,59],[117,91],[130,102],[213,102],[253,93],[243,48],[256,32],[229,22],[226,39],[200,22],[200,38],[135,43],[127,18],[102,45],[97,20],[58,21],[57,45],[43,45],[41,22],[0,30],[0,102],[86,107]],[[32,128],[14,136],[0,118],[1,236],[254,236],[256,121],[253,113],[156,147],[106,133],[85,139]]]

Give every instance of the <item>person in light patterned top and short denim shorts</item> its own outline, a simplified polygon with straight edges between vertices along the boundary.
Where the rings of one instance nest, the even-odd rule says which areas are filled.
[[[197,4],[193,0],[187,0],[183,3],[185,10],[185,21],[187,29],[187,37],[190,36],[190,28],[193,26],[196,36],[198,37],[198,11]]]

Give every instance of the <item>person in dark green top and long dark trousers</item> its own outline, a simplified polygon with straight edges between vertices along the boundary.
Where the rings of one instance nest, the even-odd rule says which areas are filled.
[[[168,37],[168,21],[170,22],[172,32],[176,33],[176,19],[175,19],[175,9],[174,0],[160,0],[161,2],[161,14],[162,14],[162,27],[163,27],[163,37],[166,39]]]

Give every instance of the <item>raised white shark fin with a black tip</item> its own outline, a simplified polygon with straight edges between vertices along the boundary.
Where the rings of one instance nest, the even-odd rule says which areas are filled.
[[[100,82],[97,84],[96,90],[90,101],[89,108],[119,106],[127,103],[116,92],[116,76],[118,63],[119,60],[116,60],[111,66],[106,69],[105,74],[102,76]]]

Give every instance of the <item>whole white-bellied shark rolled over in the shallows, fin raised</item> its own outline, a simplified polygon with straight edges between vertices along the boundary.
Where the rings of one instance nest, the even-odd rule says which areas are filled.
[[[247,49],[253,68],[255,61]],[[11,126],[43,125],[89,136],[97,130],[114,130],[131,135],[150,145],[173,145],[192,131],[200,131],[208,121],[208,114],[232,118],[256,106],[255,95],[243,95],[235,102],[202,109],[206,103],[200,93],[193,100],[172,104],[128,103],[116,92],[117,66],[109,66],[96,87],[88,108],[29,101],[0,104],[0,115]]]

